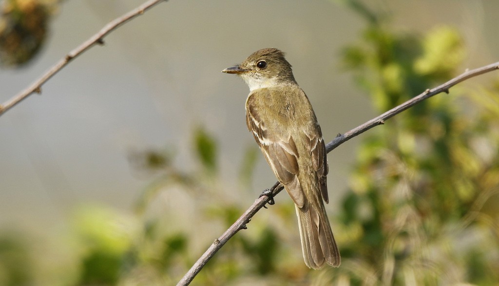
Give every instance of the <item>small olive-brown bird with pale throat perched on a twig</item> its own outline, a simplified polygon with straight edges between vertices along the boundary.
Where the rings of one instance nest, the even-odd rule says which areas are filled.
[[[250,87],[246,123],[277,180],[294,201],[303,259],[309,268],[338,267],[340,254],[324,209],[327,153],[307,96],[284,53],[265,48],[222,72]]]

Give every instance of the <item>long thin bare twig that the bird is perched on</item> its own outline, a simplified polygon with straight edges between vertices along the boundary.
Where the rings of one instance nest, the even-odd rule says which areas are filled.
[[[413,97],[412,99],[400,104],[399,106],[388,110],[387,112],[381,114],[380,116],[373,118],[366,123],[355,127],[354,129],[345,132],[343,134],[339,134],[334,138],[331,142],[326,145],[326,152],[331,152],[334,148],[338,147],[342,143],[352,139],[353,137],[381,124],[385,123],[385,120],[401,113],[402,111],[414,106],[415,104],[434,96],[435,94],[439,94],[441,92],[449,93],[449,89],[454,85],[465,81],[471,77],[481,75],[493,70],[499,69],[499,62],[489,64],[480,68],[476,68],[473,70],[466,71],[465,73],[449,80],[448,82],[437,86],[433,89],[427,89],[425,92],[420,95]],[[272,196],[277,195],[281,190],[282,186],[277,182],[274,184],[270,190],[272,191]],[[182,280],[177,284],[177,286],[185,286],[189,285],[194,277],[201,271],[201,269],[205,266],[205,264],[217,253],[219,249],[221,249],[224,244],[229,241],[231,237],[233,237],[237,232],[242,229],[246,229],[246,224],[248,224],[251,218],[269,201],[267,196],[262,196],[257,199],[253,205],[215,242],[208,248],[208,250],[199,258],[199,260],[192,266],[189,272],[182,278]]]

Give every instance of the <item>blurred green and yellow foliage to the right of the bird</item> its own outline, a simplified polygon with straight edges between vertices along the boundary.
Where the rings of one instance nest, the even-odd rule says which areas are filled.
[[[459,72],[452,27],[425,35],[373,22],[344,67],[382,113]],[[450,90],[363,137],[343,201],[337,281],[442,285],[499,281],[499,112],[493,87]],[[333,224],[334,225],[334,224]],[[338,231],[339,229],[339,231]]]

